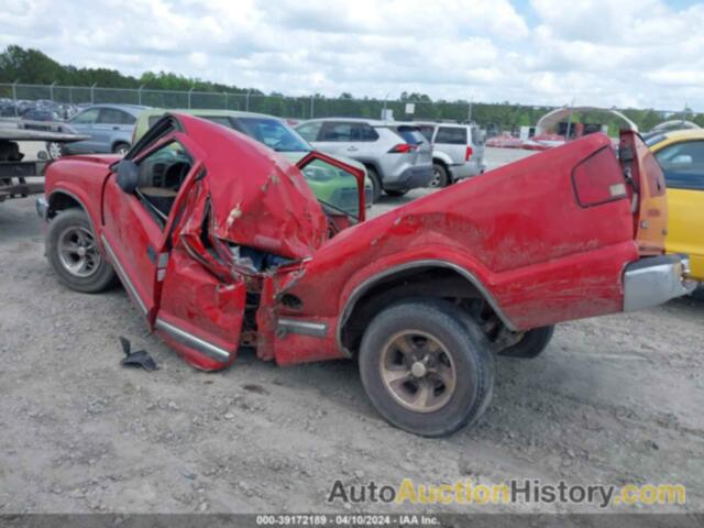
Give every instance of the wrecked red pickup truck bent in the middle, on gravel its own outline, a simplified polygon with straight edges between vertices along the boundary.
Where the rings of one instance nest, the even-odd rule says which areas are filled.
[[[310,177],[353,177],[359,218]],[[169,114],[128,155],[72,156],[37,202],[59,279],[120,278],[191,365],[255,346],[279,365],[356,358],[392,424],[442,436],[474,422],[494,355],[540,353],[553,324],[692,289],[663,256],[662,173],[638,135],[592,134],[364,221],[363,174],[318,152],[297,166],[209,121]]]

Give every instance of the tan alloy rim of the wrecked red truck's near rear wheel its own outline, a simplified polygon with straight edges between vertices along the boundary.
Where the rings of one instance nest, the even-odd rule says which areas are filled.
[[[392,336],[382,350],[380,374],[394,400],[415,413],[441,409],[457,388],[457,370],[448,349],[420,330]]]

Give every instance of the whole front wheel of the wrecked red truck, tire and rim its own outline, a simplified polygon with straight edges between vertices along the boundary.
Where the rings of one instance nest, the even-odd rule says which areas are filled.
[[[76,292],[96,294],[116,280],[81,209],[61,211],[48,224],[46,257],[62,283]]]

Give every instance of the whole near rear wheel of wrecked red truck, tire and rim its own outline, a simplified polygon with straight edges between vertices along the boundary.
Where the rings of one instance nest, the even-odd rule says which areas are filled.
[[[491,345],[448,301],[418,299],[383,310],[360,349],[370,399],[394,426],[442,437],[474,424],[494,387]]]

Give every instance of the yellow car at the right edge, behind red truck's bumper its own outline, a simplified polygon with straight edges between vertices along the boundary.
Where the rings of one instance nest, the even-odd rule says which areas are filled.
[[[688,253],[692,276],[704,280],[704,129],[650,135],[646,143],[668,186],[669,253]]]

